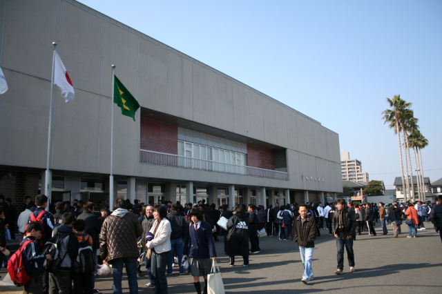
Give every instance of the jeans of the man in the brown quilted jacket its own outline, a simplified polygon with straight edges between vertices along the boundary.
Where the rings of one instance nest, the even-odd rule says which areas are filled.
[[[126,266],[127,280],[129,284],[129,293],[138,293],[137,282],[137,257],[119,257],[113,259],[113,294],[121,294],[122,290],[122,277],[123,277],[123,265]]]

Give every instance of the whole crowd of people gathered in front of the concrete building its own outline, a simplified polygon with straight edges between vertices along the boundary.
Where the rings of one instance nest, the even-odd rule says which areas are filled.
[[[112,267],[113,293],[122,293],[123,268],[130,293],[138,292],[137,279],[144,275],[145,286],[153,288],[155,294],[168,293],[167,275],[174,270],[180,275],[190,273],[195,292],[207,293],[207,275],[217,257],[214,242],[220,235],[224,235],[224,254],[229,256],[230,266],[236,266],[236,256],[242,257],[242,266],[249,266],[249,255],[260,253],[258,235],[294,240],[300,250],[304,266],[301,281],[305,284],[314,280],[314,242],[321,231],[328,230],[336,238],[336,275],[344,271],[344,248],[349,271],[355,271],[356,235],[367,232],[376,236],[374,224],[378,220],[383,235],[387,235],[387,223],[392,224],[395,238],[401,233],[402,222],[408,226],[407,237],[417,237],[417,231],[431,221],[442,240],[442,197],[436,204],[352,204],[337,199],[325,206],[294,203],[266,209],[254,204],[233,208],[224,204],[216,209],[215,204],[205,204],[204,200],[182,206],[180,202],[159,201],[154,205],[135,200],[131,204],[128,199],[117,199],[112,212],[106,201],[75,200],[72,206],[58,202],[52,213],[46,210],[45,195],[37,195],[35,202],[27,200],[17,222],[23,235],[19,250],[23,250],[23,264],[30,276],[23,293],[71,293],[72,289],[74,293],[99,293],[95,289],[98,264]],[[0,228],[8,228],[5,216],[0,203]],[[226,226],[218,225],[222,217],[227,219]],[[5,235],[0,231],[2,251],[6,248]],[[55,242],[57,255],[48,249]],[[93,266],[89,266],[88,258]]]

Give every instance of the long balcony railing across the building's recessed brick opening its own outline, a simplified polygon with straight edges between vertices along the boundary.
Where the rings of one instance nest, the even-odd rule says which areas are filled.
[[[175,166],[177,168],[192,168],[195,170],[208,170],[218,173],[267,177],[269,179],[282,179],[284,181],[289,180],[288,173],[280,172],[278,170],[265,170],[262,168],[253,168],[251,166],[226,164],[224,162],[196,159],[150,150],[140,150],[140,162],[143,164],[156,164],[159,166]]]

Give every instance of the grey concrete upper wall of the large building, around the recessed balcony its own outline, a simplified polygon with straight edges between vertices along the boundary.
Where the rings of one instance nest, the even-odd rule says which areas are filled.
[[[5,1],[0,0],[0,12],[3,9]],[[7,1],[3,39],[1,67],[9,90],[0,99],[0,165],[46,167],[51,43],[57,41],[75,87],[75,99],[64,103],[56,88],[50,168],[110,173],[111,64],[115,63],[115,74],[142,107],[287,148],[290,179],[276,181],[140,164],[140,111],[134,122],[122,116],[117,107],[114,174],[336,192],[342,189],[338,134],[81,3]],[[187,130],[185,133],[187,136]],[[213,146],[217,144],[222,148],[222,144],[235,146],[236,142],[213,138]],[[301,175],[320,177],[324,182],[301,179]]]

